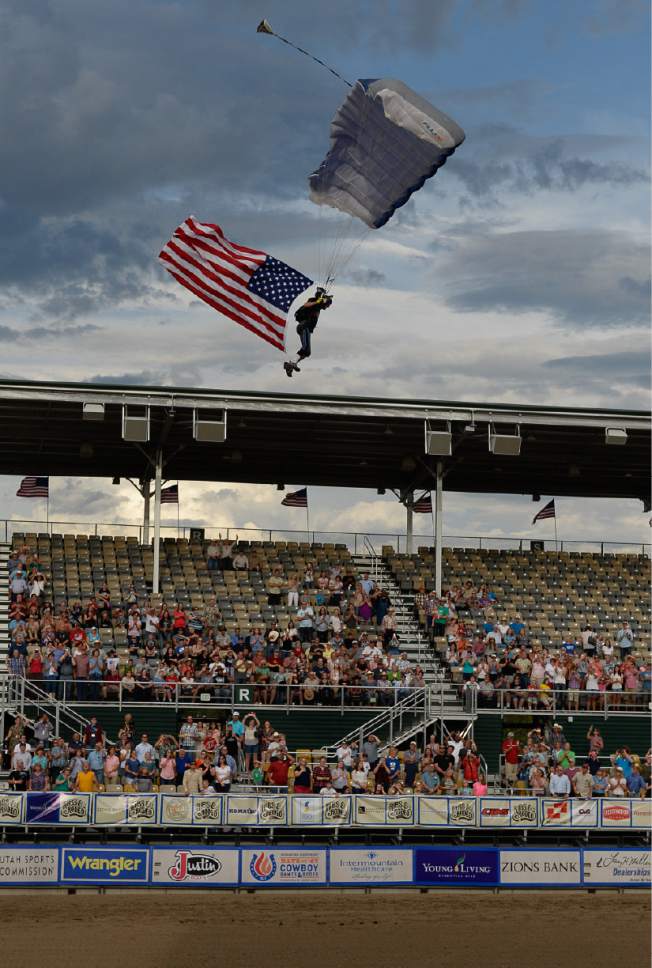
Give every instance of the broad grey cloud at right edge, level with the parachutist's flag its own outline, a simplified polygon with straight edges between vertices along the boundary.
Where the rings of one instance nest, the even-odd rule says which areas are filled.
[[[569,327],[649,321],[649,250],[619,232],[497,232],[444,257],[448,305],[544,312]]]

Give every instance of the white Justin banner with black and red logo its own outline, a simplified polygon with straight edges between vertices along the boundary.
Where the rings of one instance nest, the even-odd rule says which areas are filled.
[[[153,847],[151,883],[211,887],[238,883],[237,847]]]

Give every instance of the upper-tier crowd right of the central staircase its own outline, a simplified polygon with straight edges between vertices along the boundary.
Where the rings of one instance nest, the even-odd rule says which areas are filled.
[[[465,698],[479,707],[597,710],[605,693],[609,708],[645,708],[652,666],[635,649],[625,621],[612,636],[585,626],[578,638],[562,637],[557,648],[532,643],[517,616],[496,615],[496,595],[471,581],[438,597],[420,591],[415,610],[431,639],[443,637],[445,659]]]

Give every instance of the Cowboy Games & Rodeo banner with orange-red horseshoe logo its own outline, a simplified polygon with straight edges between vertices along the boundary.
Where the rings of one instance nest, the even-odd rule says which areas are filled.
[[[325,848],[243,849],[240,881],[256,887],[315,887],[326,883],[326,856]]]

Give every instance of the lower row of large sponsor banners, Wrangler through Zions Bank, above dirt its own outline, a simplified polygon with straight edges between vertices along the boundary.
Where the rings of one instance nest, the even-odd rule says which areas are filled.
[[[643,848],[0,845],[4,887],[649,888]]]

